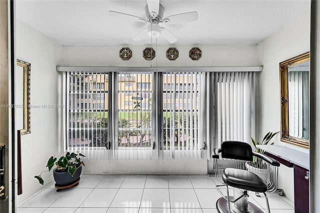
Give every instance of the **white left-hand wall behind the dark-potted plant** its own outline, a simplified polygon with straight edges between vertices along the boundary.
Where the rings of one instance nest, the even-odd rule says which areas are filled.
[[[61,63],[61,44],[16,20],[16,58],[31,63],[31,133],[21,135],[22,194],[17,204],[42,189],[35,175],[45,170],[50,156],[62,151],[60,108],[43,108],[42,104],[61,103],[61,78],[56,65]],[[40,106],[40,108],[34,108]],[[17,117],[16,121],[21,119]],[[52,173],[42,173],[44,184],[53,180]]]

